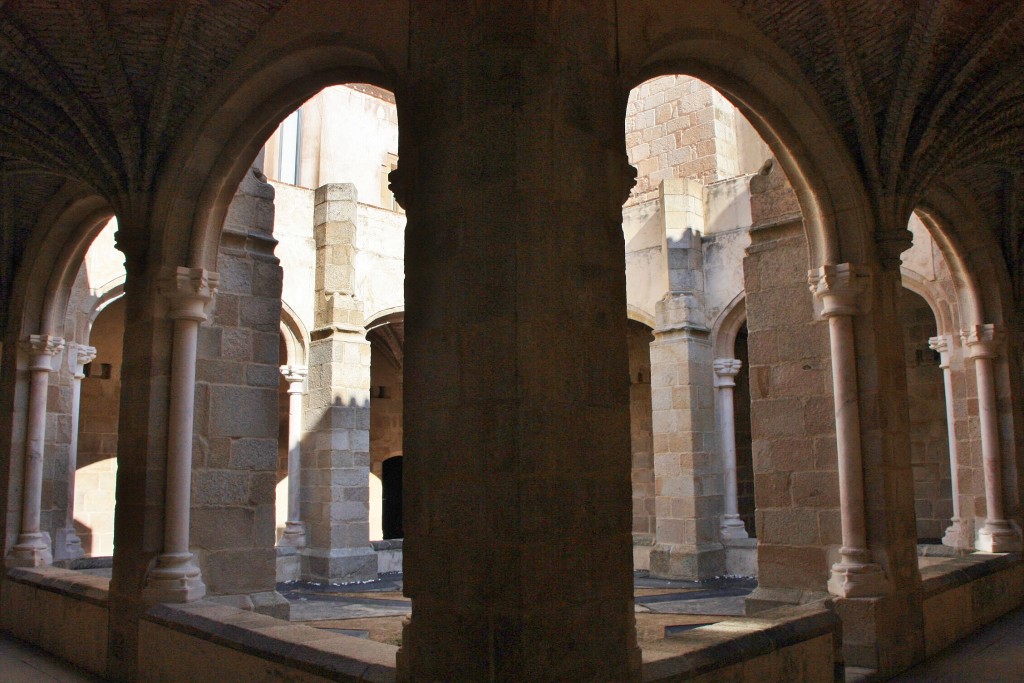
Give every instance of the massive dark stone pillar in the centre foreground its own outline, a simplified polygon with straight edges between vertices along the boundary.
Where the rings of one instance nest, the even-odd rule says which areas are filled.
[[[569,51],[548,24],[569,17],[507,4],[414,3],[415,80],[397,93],[398,678],[638,681],[625,92],[581,56],[611,39],[583,27],[610,24],[572,23]],[[441,30],[460,39],[421,39]]]

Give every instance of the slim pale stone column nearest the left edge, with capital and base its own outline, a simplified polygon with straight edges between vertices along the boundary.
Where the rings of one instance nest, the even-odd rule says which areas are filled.
[[[7,556],[7,566],[43,566],[53,561],[49,535],[40,529],[43,495],[43,451],[46,442],[46,399],[54,356],[65,341],[52,335],[32,335],[29,352],[29,424],[25,444],[25,484],[22,488],[22,531]]]

